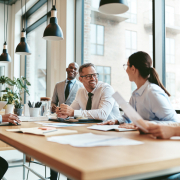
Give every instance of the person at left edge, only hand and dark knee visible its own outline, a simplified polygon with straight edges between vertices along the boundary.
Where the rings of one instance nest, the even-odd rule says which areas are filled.
[[[17,125],[16,122],[20,123],[20,120],[15,114],[5,114],[5,115],[0,115],[0,123],[2,122],[10,122],[14,125]],[[7,161],[3,159],[2,157],[0,157],[0,179],[3,178],[7,169],[8,169]]]

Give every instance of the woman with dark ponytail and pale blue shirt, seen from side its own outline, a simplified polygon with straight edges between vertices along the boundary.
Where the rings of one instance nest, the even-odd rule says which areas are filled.
[[[146,52],[136,52],[129,57],[126,72],[131,82],[135,82],[137,89],[132,93],[130,105],[141,115],[144,120],[153,123],[168,124],[178,121],[178,116],[173,109],[169,92],[161,83],[158,73],[152,67],[152,59]],[[120,122],[131,123],[123,115]],[[103,124],[119,124],[119,120],[109,120]],[[122,124],[120,127],[133,128],[133,125]]]

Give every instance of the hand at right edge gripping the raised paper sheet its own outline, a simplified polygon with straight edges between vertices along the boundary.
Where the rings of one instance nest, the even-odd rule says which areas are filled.
[[[154,137],[161,139],[169,139],[176,134],[176,127],[161,125],[161,124],[149,124],[148,131]]]

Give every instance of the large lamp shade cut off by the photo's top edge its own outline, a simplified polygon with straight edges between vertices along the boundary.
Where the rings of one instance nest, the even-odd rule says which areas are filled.
[[[101,0],[99,11],[104,14],[122,14],[128,11],[127,0]]]

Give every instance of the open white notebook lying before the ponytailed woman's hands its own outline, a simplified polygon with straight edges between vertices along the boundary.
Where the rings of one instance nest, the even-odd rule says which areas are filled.
[[[100,131],[135,131],[135,129],[118,128],[119,125],[93,125],[87,127],[88,129],[100,130]]]

